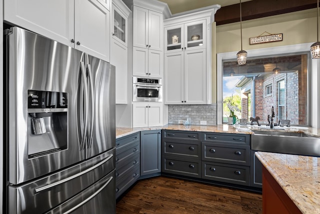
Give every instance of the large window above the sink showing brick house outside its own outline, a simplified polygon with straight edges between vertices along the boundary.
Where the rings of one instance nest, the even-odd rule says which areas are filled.
[[[239,109],[238,118],[259,117],[259,123],[267,124],[267,115],[274,107],[279,119],[290,124],[309,124],[309,99],[307,65],[309,53],[281,56],[265,56],[247,59],[246,65],[238,66],[236,59],[222,61],[222,101],[233,96]],[[277,67],[279,72],[274,72]],[[236,98],[236,99],[234,99]],[[222,123],[227,122],[228,109],[222,107]]]

